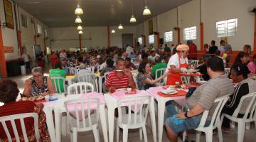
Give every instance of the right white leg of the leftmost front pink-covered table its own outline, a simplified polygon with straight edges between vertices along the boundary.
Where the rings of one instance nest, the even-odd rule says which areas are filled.
[[[106,124],[106,116],[105,116],[105,104],[100,105],[99,113],[100,113],[100,124],[102,125],[102,133],[103,133],[104,141],[108,142],[107,124]]]

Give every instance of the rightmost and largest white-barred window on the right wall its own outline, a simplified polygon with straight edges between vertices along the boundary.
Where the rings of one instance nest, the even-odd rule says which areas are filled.
[[[238,30],[238,18],[216,22],[217,37],[235,36]]]

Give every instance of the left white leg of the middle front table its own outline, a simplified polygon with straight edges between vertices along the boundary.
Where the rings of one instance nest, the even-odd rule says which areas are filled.
[[[114,107],[109,104],[107,107],[110,142],[114,141]]]

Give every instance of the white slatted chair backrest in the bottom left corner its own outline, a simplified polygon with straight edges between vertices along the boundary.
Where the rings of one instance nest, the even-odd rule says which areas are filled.
[[[11,116],[0,117],[0,122],[1,122],[2,126],[4,127],[4,131],[6,133],[8,141],[11,141],[10,130],[6,126],[6,122],[8,122],[8,121],[9,122],[11,121],[11,126],[13,129],[16,141],[18,141],[18,142],[20,141],[19,136],[18,136],[18,129],[16,127],[17,121],[15,121],[18,119],[21,123],[21,130],[22,130],[22,135],[23,135],[24,141],[28,142],[28,136],[26,133],[24,119],[29,118],[29,117],[33,117],[36,141],[39,141],[40,136],[39,136],[39,131],[38,131],[38,114],[36,114],[36,113],[15,114],[15,115],[11,115]]]

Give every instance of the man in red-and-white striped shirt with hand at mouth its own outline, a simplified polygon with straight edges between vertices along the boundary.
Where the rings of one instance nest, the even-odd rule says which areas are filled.
[[[125,68],[125,60],[118,58],[117,70],[113,70],[107,75],[105,90],[107,92],[115,92],[116,89],[127,87],[135,88],[132,72]]]

